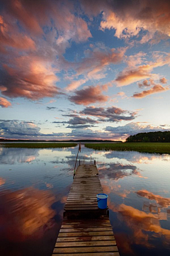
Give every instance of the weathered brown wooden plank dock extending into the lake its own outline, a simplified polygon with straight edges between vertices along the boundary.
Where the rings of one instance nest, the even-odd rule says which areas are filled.
[[[64,207],[64,219],[52,256],[118,256],[106,209],[96,194],[103,193],[96,165],[80,165]]]

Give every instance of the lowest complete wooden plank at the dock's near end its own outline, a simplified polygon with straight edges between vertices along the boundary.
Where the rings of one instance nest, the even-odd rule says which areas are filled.
[[[55,247],[53,252],[58,253],[80,253],[80,252],[118,252],[116,245],[92,246],[92,247]]]

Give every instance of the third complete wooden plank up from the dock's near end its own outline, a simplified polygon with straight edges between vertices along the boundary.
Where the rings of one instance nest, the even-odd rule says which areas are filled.
[[[104,241],[104,240],[115,240],[114,235],[96,235],[96,236],[78,236],[78,237],[67,237],[57,238],[57,242],[78,242],[78,241]]]

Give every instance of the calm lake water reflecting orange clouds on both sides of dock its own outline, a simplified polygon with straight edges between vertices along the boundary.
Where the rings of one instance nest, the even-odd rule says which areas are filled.
[[[78,148],[0,148],[1,256],[50,256]],[[98,151],[96,159],[121,256],[170,255],[170,155]]]

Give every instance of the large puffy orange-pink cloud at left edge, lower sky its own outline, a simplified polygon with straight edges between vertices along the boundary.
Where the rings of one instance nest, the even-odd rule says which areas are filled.
[[[38,100],[59,93],[55,86],[58,81],[55,71],[50,63],[38,60],[37,57],[14,58],[13,63],[9,62],[0,70],[0,77],[1,85],[5,88],[1,94],[11,98]]]

